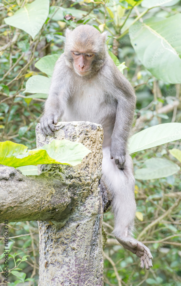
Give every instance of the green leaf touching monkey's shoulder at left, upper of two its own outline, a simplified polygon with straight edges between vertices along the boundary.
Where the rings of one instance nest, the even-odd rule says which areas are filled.
[[[60,55],[58,54],[46,55],[35,63],[35,67],[37,67],[37,69],[41,70],[41,72],[44,72],[45,74],[47,74],[47,76],[50,77],[53,74],[53,68],[59,56]]]

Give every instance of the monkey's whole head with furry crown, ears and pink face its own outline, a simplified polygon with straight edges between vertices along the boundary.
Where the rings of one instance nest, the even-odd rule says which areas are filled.
[[[106,57],[107,32],[100,33],[89,25],[80,25],[73,31],[66,29],[65,59],[79,76],[95,74]]]

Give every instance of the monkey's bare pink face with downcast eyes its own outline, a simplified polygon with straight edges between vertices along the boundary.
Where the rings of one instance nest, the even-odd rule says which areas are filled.
[[[80,76],[84,76],[89,72],[94,56],[93,53],[72,52],[74,68]]]

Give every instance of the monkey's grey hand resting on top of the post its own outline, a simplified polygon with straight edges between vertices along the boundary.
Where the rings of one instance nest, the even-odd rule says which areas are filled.
[[[40,130],[44,136],[53,136],[53,131],[56,130],[53,123],[56,125],[58,123],[59,116],[55,114],[43,115],[40,119]]]

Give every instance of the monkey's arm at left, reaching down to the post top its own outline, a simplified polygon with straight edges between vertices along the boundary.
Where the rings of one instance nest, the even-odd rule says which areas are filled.
[[[65,69],[66,65],[63,54],[55,64],[49,95],[45,102],[44,114],[40,119],[40,128],[44,135],[53,136],[53,131],[56,130],[53,124],[57,124],[65,110],[67,100],[67,91],[65,88],[67,80],[65,74],[67,71]]]

